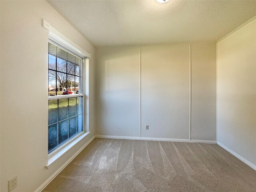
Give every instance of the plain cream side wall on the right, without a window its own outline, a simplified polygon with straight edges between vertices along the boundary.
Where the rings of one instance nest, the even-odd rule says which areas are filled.
[[[256,19],[217,47],[218,142],[256,168]]]

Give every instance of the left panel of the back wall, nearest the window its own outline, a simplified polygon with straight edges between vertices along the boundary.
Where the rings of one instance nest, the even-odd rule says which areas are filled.
[[[98,60],[97,134],[140,134],[140,47],[102,48]]]

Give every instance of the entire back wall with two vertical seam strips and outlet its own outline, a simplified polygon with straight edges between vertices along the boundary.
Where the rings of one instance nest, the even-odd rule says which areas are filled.
[[[191,59],[191,138],[216,141],[215,43]],[[189,44],[96,48],[96,83],[97,135],[189,139]]]

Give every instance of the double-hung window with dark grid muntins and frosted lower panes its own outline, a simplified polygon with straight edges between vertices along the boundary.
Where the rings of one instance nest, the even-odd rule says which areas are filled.
[[[48,42],[48,153],[83,129],[82,57]]]

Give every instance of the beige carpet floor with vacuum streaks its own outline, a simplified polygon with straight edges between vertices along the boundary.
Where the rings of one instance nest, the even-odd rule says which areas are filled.
[[[44,192],[256,192],[256,171],[217,144],[95,138]]]

